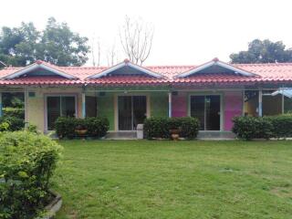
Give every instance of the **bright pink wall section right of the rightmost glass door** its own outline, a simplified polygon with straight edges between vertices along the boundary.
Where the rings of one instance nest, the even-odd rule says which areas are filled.
[[[242,91],[224,92],[224,130],[232,130],[232,119],[241,116],[243,110]]]

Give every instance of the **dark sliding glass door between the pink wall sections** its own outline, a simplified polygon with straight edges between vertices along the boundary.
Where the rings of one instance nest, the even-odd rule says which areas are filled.
[[[200,130],[220,130],[219,95],[191,96],[191,116],[200,121]]]

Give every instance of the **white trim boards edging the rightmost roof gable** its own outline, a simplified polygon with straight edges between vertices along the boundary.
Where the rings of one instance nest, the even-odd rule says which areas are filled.
[[[201,70],[203,69],[206,69],[206,68],[210,68],[212,66],[219,66],[219,67],[222,67],[222,68],[226,68],[228,70],[232,70],[235,72],[235,74],[238,74],[238,75],[243,75],[243,76],[255,76],[254,73],[251,73],[249,71],[245,71],[244,69],[241,69],[241,68],[235,68],[234,66],[232,65],[229,65],[227,63],[224,63],[222,61],[219,61],[219,60],[212,60],[210,62],[207,62],[205,64],[203,64],[202,66],[199,66],[199,67],[196,67],[196,68],[193,68],[191,70],[188,70],[186,72],[183,72],[182,74],[179,74],[177,75],[175,78],[184,78],[184,77],[188,77],[190,75],[193,75],[195,73],[198,73],[200,72]]]

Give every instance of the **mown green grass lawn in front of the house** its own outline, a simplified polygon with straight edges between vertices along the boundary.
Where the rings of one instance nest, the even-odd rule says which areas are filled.
[[[57,218],[292,218],[292,141],[60,141]]]

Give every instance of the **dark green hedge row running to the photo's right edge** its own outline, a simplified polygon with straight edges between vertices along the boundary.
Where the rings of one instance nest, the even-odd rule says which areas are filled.
[[[292,115],[268,117],[235,117],[233,131],[240,139],[292,137]]]

